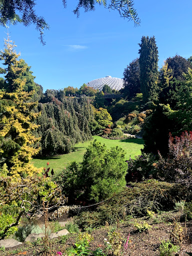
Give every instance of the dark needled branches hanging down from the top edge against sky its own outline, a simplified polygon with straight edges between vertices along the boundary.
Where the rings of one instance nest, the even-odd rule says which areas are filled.
[[[66,7],[66,0],[62,0],[63,6]],[[135,25],[139,25],[140,19],[137,17],[136,10],[133,8],[133,0],[110,0],[107,6],[105,0],[78,0],[73,12],[78,16],[79,9],[85,11],[94,10],[95,3],[103,4],[105,8],[115,9],[120,16],[133,20]],[[43,41],[43,30],[49,28],[42,16],[35,13],[35,0],[0,0],[0,24],[5,26],[7,23],[22,22],[25,26],[33,23],[40,33],[41,43]]]

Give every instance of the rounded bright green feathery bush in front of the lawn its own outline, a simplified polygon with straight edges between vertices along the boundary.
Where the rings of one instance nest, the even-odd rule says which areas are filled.
[[[107,149],[94,140],[83,155],[79,180],[85,195],[99,201],[125,187],[127,164],[124,151],[116,146]]]

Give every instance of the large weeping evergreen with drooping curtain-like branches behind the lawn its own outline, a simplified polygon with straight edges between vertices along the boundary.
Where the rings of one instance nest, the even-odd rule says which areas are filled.
[[[68,153],[75,143],[91,139],[88,122],[93,112],[85,96],[77,100],[64,98],[63,90],[46,90],[38,111],[41,154]]]

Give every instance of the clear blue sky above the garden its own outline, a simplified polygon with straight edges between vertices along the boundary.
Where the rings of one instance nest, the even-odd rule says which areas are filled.
[[[119,16],[117,11],[96,5],[94,11],[81,9],[79,18],[73,14],[75,0],[36,0],[36,11],[50,25],[44,32],[45,46],[38,39],[33,25],[9,26],[11,39],[20,58],[31,66],[35,82],[43,90],[80,87],[93,79],[111,75],[123,77],[129,62],[138,57],[142,35],[156,39],[159,62],[169,56],[192,55],[192,1],[134,0],[141,19],[139,27]],[[6,29],[0,27],[0,49]]]

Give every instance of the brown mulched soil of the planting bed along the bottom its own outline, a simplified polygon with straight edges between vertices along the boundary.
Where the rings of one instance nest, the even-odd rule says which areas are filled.
[[[139,232],[134,227],[133,219],[126,221],[124,223],[118,224],[118,231],[121,234],[122,240],[126,239],[128,233],[130,232],[129,243],[126,251],[122,253],[123,256],[157,256],[159,255],[159,245],[160,241],[168,240],[170,237],[170,232],[173,227],[173,218],[177,217],[176,213],[169,213],[168,217],[158,217],[154,221],[152,218],[145,218],[151,228],[147,231]],[[143,219],[143,218],[142,218]],[[154,223],[156,222],[156,223]],[[182,223],[184,227],[184,222]],[[104,249],[104,238],[107,238],[107,232],[113,226],[105,226],[99,229],[95,229],[91,232],[93,240],[90,242],[90,249],[94,250],[98,247]],[[192,252],[192,221],[186,222],[187,235],[183,240],[183,243],[180,246],[178,252],[179,256],[187,256],[185,252]],[[66,254],[65,249],[67,247],[73,246],[76,240],[77,234],[70,234],[66,240],[61,238],[54,238],[51,240],[51,253],[47,254],[48,256],[55,256],[56,251],[61,251],[63,255]],[[1,256],[15,256],[15,255],[26,255],[26,256],[36,256],[43,255],[40,253],[42,250],[42,243],[38,242],[37,244],[23,243],[20,246],[16,246],[12,249],[5,249],[5,251],[0,251]],[[109,254],[112,251],[109,251]],[[173,254],[175,255],[175,253]]]

